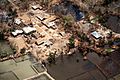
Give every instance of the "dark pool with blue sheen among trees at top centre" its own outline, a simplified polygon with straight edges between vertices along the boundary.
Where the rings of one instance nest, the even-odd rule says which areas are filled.
[[[74,5],[70,1],[64,1],[60,5],[55,5],[53,7],[53,11],[55,13],[61,13],[62,15],[67,15],[70,13],[74,17],[75,21],[80,21],[84,18],[84,13],[81,12],[77,5]]]

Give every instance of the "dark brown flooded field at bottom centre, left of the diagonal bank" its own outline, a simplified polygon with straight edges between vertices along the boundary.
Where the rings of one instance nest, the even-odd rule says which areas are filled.
[[[56,80],[106,80],[105,76],[90,61],[82,56],[63,56],[56,59],[56,64],[47,65],[48,73]]]

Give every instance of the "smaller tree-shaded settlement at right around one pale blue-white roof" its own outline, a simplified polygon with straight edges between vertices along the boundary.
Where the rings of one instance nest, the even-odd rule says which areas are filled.
[[[103,27],[95,20],[95,17],[91,16],[90,22],[81,20],[77,24],[80,27],[79,31],[81,31],[79,35],[85,34],[87,37],[84,41],[81,38],[79,43],[80,50],[85,53],[85,56],[89,53],[89,50],[99,55],[108,55],[116,49],[119,49],[119,41],[117,41],[117,44],[114,43],[116,43],[116,39],[120,38],[120,35]]]

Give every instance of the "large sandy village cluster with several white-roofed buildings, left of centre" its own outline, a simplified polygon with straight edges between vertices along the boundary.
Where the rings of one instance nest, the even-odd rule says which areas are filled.
[[[37,59],[47,60],[49,54],[59,56],[61,52],[67,50],[70,34],[61,31],[57,24],[59,19],[50,13],[42,10],[39,5],[31,5],[31,9],[26,14],[19,14],[14,20],[18,26],[24,24],[21,29],[11,32],[12,36],[8,40],[17,50],[19,56],[21,49],[26,48],[26,52],[31,52]],[[60,44],[61,43],[61,44]]]

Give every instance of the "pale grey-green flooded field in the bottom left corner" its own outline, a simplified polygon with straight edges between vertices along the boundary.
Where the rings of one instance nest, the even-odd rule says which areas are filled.
[[[23,57],[0,62],[0,80],[23,80],[37,75],[38,71],[35,70],[33,65],[42,65],[31,62],[31,57],[28,55]],[[38,67],[37,70],[40,73],[45,71],[43,67]]]

